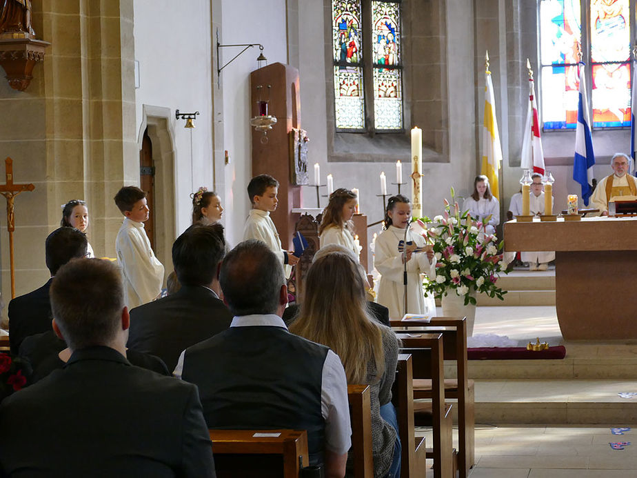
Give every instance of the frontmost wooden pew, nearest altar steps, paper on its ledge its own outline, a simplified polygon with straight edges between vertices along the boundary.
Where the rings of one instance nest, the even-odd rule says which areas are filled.
[[[468,477],[475,464],[474,381],[467,373],[467,325],[465,317],[432,317],[427,321],[392,321],[392,327],[405,326],[424,332],[442,332],[445,360],[456,361],[456,379],[445,379],[445,397],[458,401],[458,470]],[[441,330],[446,327],[449,330]],[[396,330],[404,332],[404,330]],[[431,398],[431,381],[414,380],[414,398]]]

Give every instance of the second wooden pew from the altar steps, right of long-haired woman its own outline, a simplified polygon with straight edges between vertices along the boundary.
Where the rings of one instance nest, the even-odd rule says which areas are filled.
[[[443,334],[396,335],[403,341],[401,352],[412,355],[414,377],[432,380],[431,403],[414,404],[414,413],[418,416],[419,412],[427,412],[427,425],[434,430],[433,448],[427,449],[427,458],[434,459],[434,478],[454,477],[453,422],[451,406],[445,404]]]

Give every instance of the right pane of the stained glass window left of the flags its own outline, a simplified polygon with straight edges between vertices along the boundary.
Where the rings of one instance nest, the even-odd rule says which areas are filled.
[[[372,1],[374,128],[403,128],[400,3]]]

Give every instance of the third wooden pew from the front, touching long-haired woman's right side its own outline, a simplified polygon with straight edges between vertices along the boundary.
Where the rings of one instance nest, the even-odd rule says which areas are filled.
[[[427,476],[425,437],[416,437],[414,430],[413,381],[412,356],[398,354],[392,403],[396,407],[398,437],[401,439],[401,478]]]

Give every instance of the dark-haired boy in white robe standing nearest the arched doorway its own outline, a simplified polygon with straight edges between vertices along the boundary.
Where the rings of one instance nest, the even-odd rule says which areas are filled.
[[[144,230],[150,212],[145,192],[135,186],[124,186],[114,199],[125,217],[117,232],[115,251],[124,282],[124,303],[132,309],[161,293],[164,269]]]

